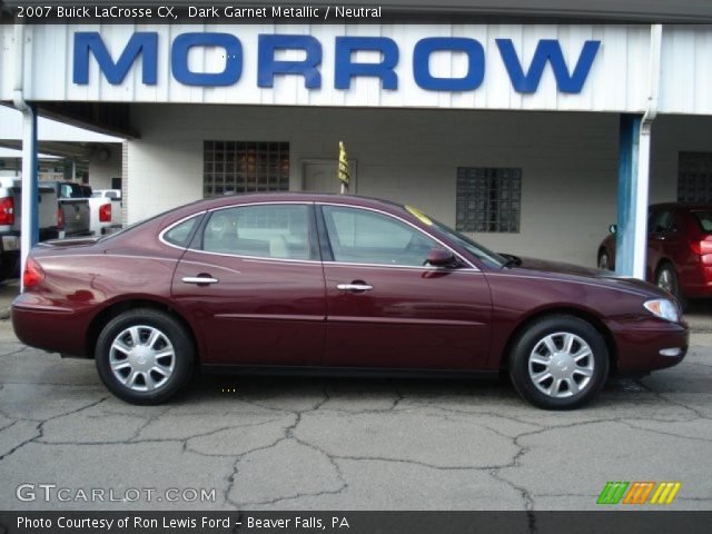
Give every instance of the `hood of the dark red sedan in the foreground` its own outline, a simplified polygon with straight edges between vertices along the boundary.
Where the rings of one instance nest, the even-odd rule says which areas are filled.
[[[522,263],[512,268],[513,273],[530,271],[537,275],[550,275],[553,278],[595,281],[602,286],[634,291],[643,297],[670,297],[664,290],[639,280],[637,278],[616,275],[611,270],[601,270],[561,261],[547,261],[537,258],[520,258]]]

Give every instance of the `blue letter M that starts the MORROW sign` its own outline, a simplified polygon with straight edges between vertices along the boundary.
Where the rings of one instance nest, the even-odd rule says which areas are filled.
[[[123,81],[131,65],[142,53],[141,81],[155,86],[158,71],[158,33],[136,32],[129,39],[117,62],[113,62],[98,31],[78,31],[75,33],[75,83],[89,83],[89,52],[93,55],[109,83],[116,86]]]

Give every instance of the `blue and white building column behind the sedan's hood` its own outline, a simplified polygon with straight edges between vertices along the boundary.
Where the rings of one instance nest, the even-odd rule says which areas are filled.
[[[622,115],[619,155],[619,221],[615,271],[645,279],[651,123]]]

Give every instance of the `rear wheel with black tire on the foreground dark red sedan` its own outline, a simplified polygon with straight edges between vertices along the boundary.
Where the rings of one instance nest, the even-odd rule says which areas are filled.
[[[129,353],[112,348],[117,340],[127,348],[132,348],[136,345],[132,343],[134,334],[128,333],[131,327],[137,327],[134,332],[137,333],[140,340],[138,345],[149,353],[137,353],[129,356]],[[156,335],[152,346],[149,347],[148,343],[154,332],[159,334]],[[120,335],[123,337],[119,339]],[[151,360],[150,358],[154,356],[150,356],[150,350],[158,357]],[[172,357],[160,356],[160,354],[170,352],[172,352]],[[113,360],[117,366],[121,365],[123,362],[121,358],[125,357],[125,354],[128,370],[125,367],[115,372],[111,362]],[[149,356],[147,357],[146,354]],[[129,357],[134,359],[130,360]],[[95,359],[101,382],[113,395],[131,404],[155,405],[166,402],[188,383],[192,374],[195,348],[189,333],[175,317],[156,309],[139,308],[125,312],[107,323],[99,334]],[[159,373],[148,369],[151,362],[160,364],[155,365],[152,369],[170,368],[170,372],[161,370]],[[136,368],[131,365],[135,365]],[[128,380],[129,375],[134,376],[130,380],[134,384],[132,387],[120,379],[123,377]],[[141,388],[144,390],[139,390]]]

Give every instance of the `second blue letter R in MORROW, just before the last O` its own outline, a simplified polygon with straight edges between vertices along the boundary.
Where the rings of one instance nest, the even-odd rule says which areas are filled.
[[[378,63],[354,63],[352,55],[357,50],[374,50],[383,55]],[[352,78],[373,76],[380,78],[384,89],[398,88],[398,75],[393,69],[398,65],[398,46],[387,37],[337,37],[334,87],[350,89]]]

